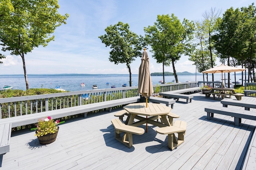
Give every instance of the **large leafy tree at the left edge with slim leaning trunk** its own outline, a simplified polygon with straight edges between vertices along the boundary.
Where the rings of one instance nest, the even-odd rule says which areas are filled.
[[[2,51],[20,55],[23,62],[26,89],[29,89],[25,55],[35,47],[45,47],[54,40],[54,30],[66,24],[68,14],[58,13],[58,0],[1,0],[0,45]]]

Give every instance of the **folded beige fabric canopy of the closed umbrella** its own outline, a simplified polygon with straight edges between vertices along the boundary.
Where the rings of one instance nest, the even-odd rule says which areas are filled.
[[[143,97],[149,97],[154,93],[153,85],[151,81],[150,71],[149,71],[149,57],[148,52],[144,49],[141,57],[141,64],[139,68],[139,81],[138,81],[138,92]]]

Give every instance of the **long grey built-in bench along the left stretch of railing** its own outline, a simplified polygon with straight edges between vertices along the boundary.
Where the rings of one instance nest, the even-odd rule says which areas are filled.
[[[58,119],[60,117],[66,117],[71,115],[76,115],[80,113],[84,113],[84,117],[87,116],[87,112],[94,111],[98,109],[111,108],[114,106],[125,105],[130,103],[140,102],[140,97],[132,97],[132,98],[123,98],[118,100],[110,100],[106,102],[98,102],[93,104],[86,104],[81,106],[74,107],[66,107],[63,109],[56,109],[50,111],[44,111],[39,113],[32,113],[28,115],[21,115],[16,117],[8,117],[4,119],[0,119],[0,124],[12,123],[12,127],[18,127],[23,125],[29,125],[32,123],[37,123],[38,119],[50,116],[52,119]],[[109,109],[111,111],[111,109]]]

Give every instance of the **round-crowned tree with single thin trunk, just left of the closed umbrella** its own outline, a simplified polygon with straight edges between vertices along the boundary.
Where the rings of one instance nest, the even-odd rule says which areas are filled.
[[[137,57],[142,56],[142,37],[139,37],[136,33],[129,30],[128,23],[118,22],[115,25],[108,26],[105,31],[106,34],[99,36],[102,43],[106,47],[112,49],[110,62],[114,64],[125,63],[130,74],[130,86],[132,86],[132,72],[130,64]]]

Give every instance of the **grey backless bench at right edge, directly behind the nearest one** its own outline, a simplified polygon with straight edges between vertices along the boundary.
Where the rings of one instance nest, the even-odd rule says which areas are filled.
[[[250,108],[256,108],[256,104],[252,102],[245,102],[245,101],[238,101],[238,100],[223,99],[220,101],[220,103],[223,105],[223,107],[228,107],[228,105],[240,106],[240,107],[244,107],[245,110],[250,110]]]

